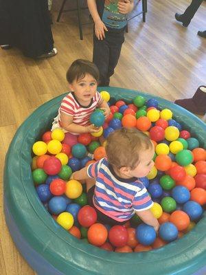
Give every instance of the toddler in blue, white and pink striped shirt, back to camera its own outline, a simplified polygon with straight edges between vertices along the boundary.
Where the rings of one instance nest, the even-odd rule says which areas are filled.
[[[89,204],[98,219],[110,225],[126,223],[137,214],[157,231],[159,223],[150,212],[152,200],[139,177],[148,175],[154,162],[154,146],[137,129],[118,129],[108,135],[106,155],[73,173],[72,179],[87,179]]]

